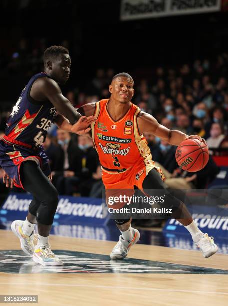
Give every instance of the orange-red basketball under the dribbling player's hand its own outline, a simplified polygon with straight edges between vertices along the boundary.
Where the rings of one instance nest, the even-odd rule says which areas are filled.
[[[207,145],[198,139],[184,140],[176,149],[176,161],[187,172],[197,172],[205,167],[209,160]]]

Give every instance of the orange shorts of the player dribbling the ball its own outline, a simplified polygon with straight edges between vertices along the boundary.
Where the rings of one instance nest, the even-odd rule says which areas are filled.
[[[145,165],[143,162],[135,164],[135,166],[123,173],[110,174],[105,170],[102,171],[102,180],[106,191],[106,203],[108,207],[109,197],[118,197],[120,194],[125,194],[126,196],[132,196],[134,194],[134,186],[143,192],[143,181],[148,175],[149,171],[155,168],[161,175],[162,180],[164,175],[159,167],[152,164]],[[124,189],[124,190],[123,190]],[[143,192],[144,193],[144,192]],[[125,203],[119,202],[114,203],[114,208],[119,209],[123,207]]]

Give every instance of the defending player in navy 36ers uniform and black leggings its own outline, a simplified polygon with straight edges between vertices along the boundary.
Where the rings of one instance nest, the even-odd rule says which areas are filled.
[[[14,184],[33,195],[26,220],[14,221],[11,225],[22,250],[36,263],[61,265],[62,261],[51,251],[48,241],[58,193],[51,183],[51,170],[42,143],[53,122],[59,128],[64,127],[65,122],[71,122],[72,132],[84,133],[90,130],[94,117],[81,117],[58,85],[65,84],[69,78],[71,59],[68,50],[52,46],[44,52],[43,60],[44,72],[29,80],[9,116],[5,136],[0,141],[0,166],[6,172],[7,186],[11,179],[11,187]],[[36,222],[38,243],[34,246]]]

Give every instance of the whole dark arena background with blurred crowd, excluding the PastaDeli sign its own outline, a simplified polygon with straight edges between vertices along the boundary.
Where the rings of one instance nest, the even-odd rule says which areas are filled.
[[[120,23],[119,1],[107,16],[101,8],[107,11],[107,3],[100,0],[95,19],[92,1],[76,2],[70,12],[67,5],[63,7],[66,16],[59,12],[58,1],[42,1],[39,7],[35,1],[17,1],[16,8],[7,1],[0,3],[6,15],[14,9],[20,12],[20,16],[10,19],[10,28],[4,25],[6,15],[2,14],[0,82],[4,90],[0,103],[0,138],[21,90],[33,74],[43,70],[44,50],[52,44],[63,45],[69,48],[72,72],[62,90],[73,106],[79,108],[85,103],[109,98],[112,77],[120,72],[130,73],[135,80],[134,104],[167,128],[205,138],[210,149],[208,165],[197,173],[188,173],[181,171],[175,161],[176,147],[146,133],[153,160],[166,176],[165,183],[170,188],[206,188],[219,173],[213,157],[228,158],[227,14]],[[86,16],[80,15],[80,11],[85,14],[86,5],[90,7],[89,12]],[[28,28],[32,14],[41,16],[50,7],[48,26],[40,22],[40,27]],[[27,18],[26,22],[23,17]],[[71,22],[68,25],[55,22],[53,28],[53,18],[68,18]],[[81,23],[82,18],[86,18],[86,25]],[[103,22],[107,23],[106,28]],[[8,39],[10,35],[12,40]],[[52,125],[43,146],[50,159],[53,183],[60,194],[102,197],[99,160],[90,139]],[[2,176],[0,169],[1,192],[5,190]]]

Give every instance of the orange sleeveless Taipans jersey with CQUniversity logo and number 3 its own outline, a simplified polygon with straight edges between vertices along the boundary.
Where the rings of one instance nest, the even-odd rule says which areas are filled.
[[[152,155],[143,135],[139,134],[136,118],[140,112],[130,104],[127,113],[114,121],[107,111],[109,99],[96,103],[92,124],[92,138],[99,155],[102,170],[109,174],[129,171],[138,163],[146,166],[146,175],[154,168]]]

